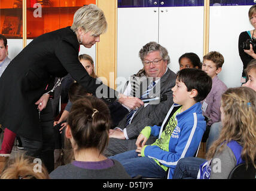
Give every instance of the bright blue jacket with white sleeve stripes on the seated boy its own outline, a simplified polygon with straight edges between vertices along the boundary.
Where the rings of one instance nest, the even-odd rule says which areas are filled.
[[[151,127],[151,135],[161,137],[164,124],[169,119],[169,115],[174,107],[180,106],[173,104],[170,107],[166,118],[161,127],[154,125]],[[169,140],[169,152],[161,150],[158,146],[146,146],[144,155],[148,158],[157,159],[161,164],[169,167],[168,178],[171,179],[179,159],[194,156],[202,140],[203,133],[206,129],[205,117],[202,115],[202,105],[197,102],[189,109],[176,115],[178,124],[173,130]]]

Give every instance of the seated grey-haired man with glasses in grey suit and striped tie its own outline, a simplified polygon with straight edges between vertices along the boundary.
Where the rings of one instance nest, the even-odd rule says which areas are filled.
[[[176,75],[167,67],[170,58],[166,48],[156,42],[149,42],[139,51],[139,56],[147,78],[141,82],[135,96],[143,98],[147,94],[153,97],[166,94],[167,100],[160,103],[145,103],[124,116],[117,128],[109,131],[106,156],[136,149],[136,139],[141,130],[147,125],[161,125],[173,104],[171,89],[175,86]],[[150,137],[147,143],[154,143],[155,140],[155,137]]]

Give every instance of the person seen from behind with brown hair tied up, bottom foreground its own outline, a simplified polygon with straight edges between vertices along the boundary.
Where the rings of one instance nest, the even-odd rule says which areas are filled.
[[[65,135],[74,150],[75,161],[57,167],[53,179],[130,178],[123,166],[102,153],[108,144],[110,114],[106,104],[93,96],[72,104]]]

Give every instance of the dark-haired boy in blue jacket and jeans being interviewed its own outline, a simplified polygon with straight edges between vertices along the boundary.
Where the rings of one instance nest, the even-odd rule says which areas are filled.
[[[211,77],[202,70],[179,70],[172,88],[174,104],[161,127],[145,127],[136,141],[136,150],[111,158],[120,161],[131,177],[172,178],[179,159],[194,156],[199,147],[206,128],[200,101],[209,94],[211,87]],[[150,135],[158,139],[145,145]]]

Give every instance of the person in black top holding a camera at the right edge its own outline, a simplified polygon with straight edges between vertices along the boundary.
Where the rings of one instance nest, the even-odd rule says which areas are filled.
[[[249,8],[248,16],[254,29],[241,32],[238,41],[239,56],[243,62],[242,84],[246,82],[246,66],[249,61],[256,59],[256,4]]]

